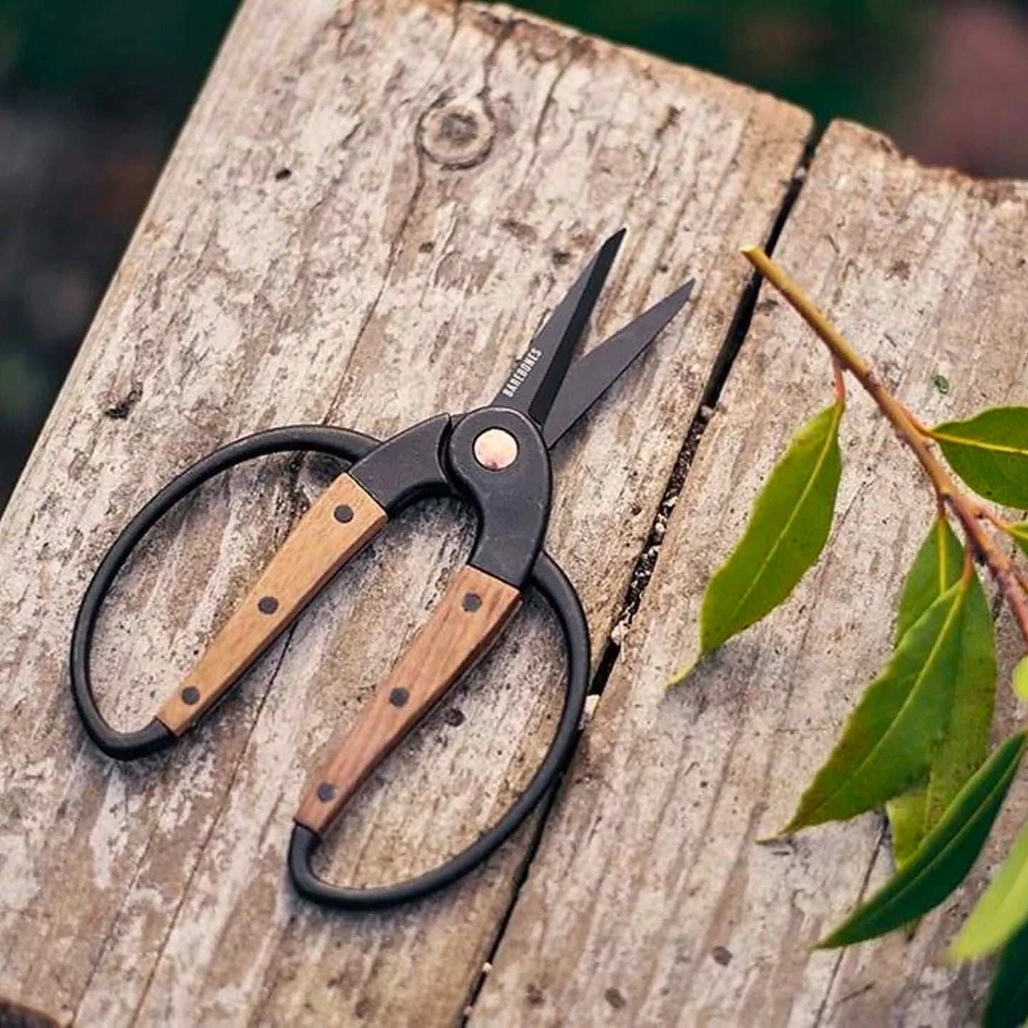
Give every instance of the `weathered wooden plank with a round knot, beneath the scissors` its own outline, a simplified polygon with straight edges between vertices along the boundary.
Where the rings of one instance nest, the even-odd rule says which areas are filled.
[[[549,540],[601,644],[746,281],[732,253],[768,232],[808,128],[499,8],[244,5],[0,529],[0,995],[82,1024],[453,1019],[524,837],[375,917],[296,902],[284,855],[306,776],[440,595],[468,516],[390,526],[213,720],[133,767],[72,711],[75,605],[128,515],[213,445],[484,401],[626,223],[594,338],[687,273],[702,289],[556,454]],[[181,680],[323,472],[241,469],[169,517],[99,632],[116,723]],[[331,873],[391,880],[493,821],[552,729],[559,660],[529,604],[342,818]]]

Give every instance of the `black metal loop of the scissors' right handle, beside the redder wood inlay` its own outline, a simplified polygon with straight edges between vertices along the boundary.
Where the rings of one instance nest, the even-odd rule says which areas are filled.
[[[567,649],[567,691],[557,731],[543,763],[525,791],[506,814],[467,849],[417,878],[394,885],[352,888],[332,885],[310,868],[321,838],[300,824],[293,825],[289,843],[289,874],[304,898],[342,910],[375,910],[411,903],[452,884],[501,846],[531,813],[563,770],[571,756],[589,689],[589,626],[574,586],[545,551],[536,559],[529,581],[546,597],[560,621]]]

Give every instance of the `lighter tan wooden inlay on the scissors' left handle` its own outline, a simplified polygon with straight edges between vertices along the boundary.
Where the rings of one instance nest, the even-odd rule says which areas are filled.
[[[350,475],[335,479],[157,711],[157,720],[176,735],[190,728],[384,523],[386,511]]]

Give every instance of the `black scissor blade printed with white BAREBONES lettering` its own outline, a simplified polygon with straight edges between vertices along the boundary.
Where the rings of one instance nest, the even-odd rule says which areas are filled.
[[[624,236],[622,228],[599,248],[531,340],[528,352],[497,394],[492,406],[520,410],[543,426]]]

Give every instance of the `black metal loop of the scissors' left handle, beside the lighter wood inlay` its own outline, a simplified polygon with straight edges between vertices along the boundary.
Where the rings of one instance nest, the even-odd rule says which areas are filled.
[[[143,537],[177,504],[215,475],[238,464],[271,453],[291,450],[325,453],[350,464],[360,461],[378,445],[376,439],[345,429],[296,425],[258,432],[209,453],[172,479],[128,522],[100,562],[75,619],[71,637],[71,692],[79,717],[94,742],[108,757],[135,760],[166,749],[176,736],[159,721],[131,732],[113,729],[97,707],[89,674],[89,653],[100,609],[114,579]]]

